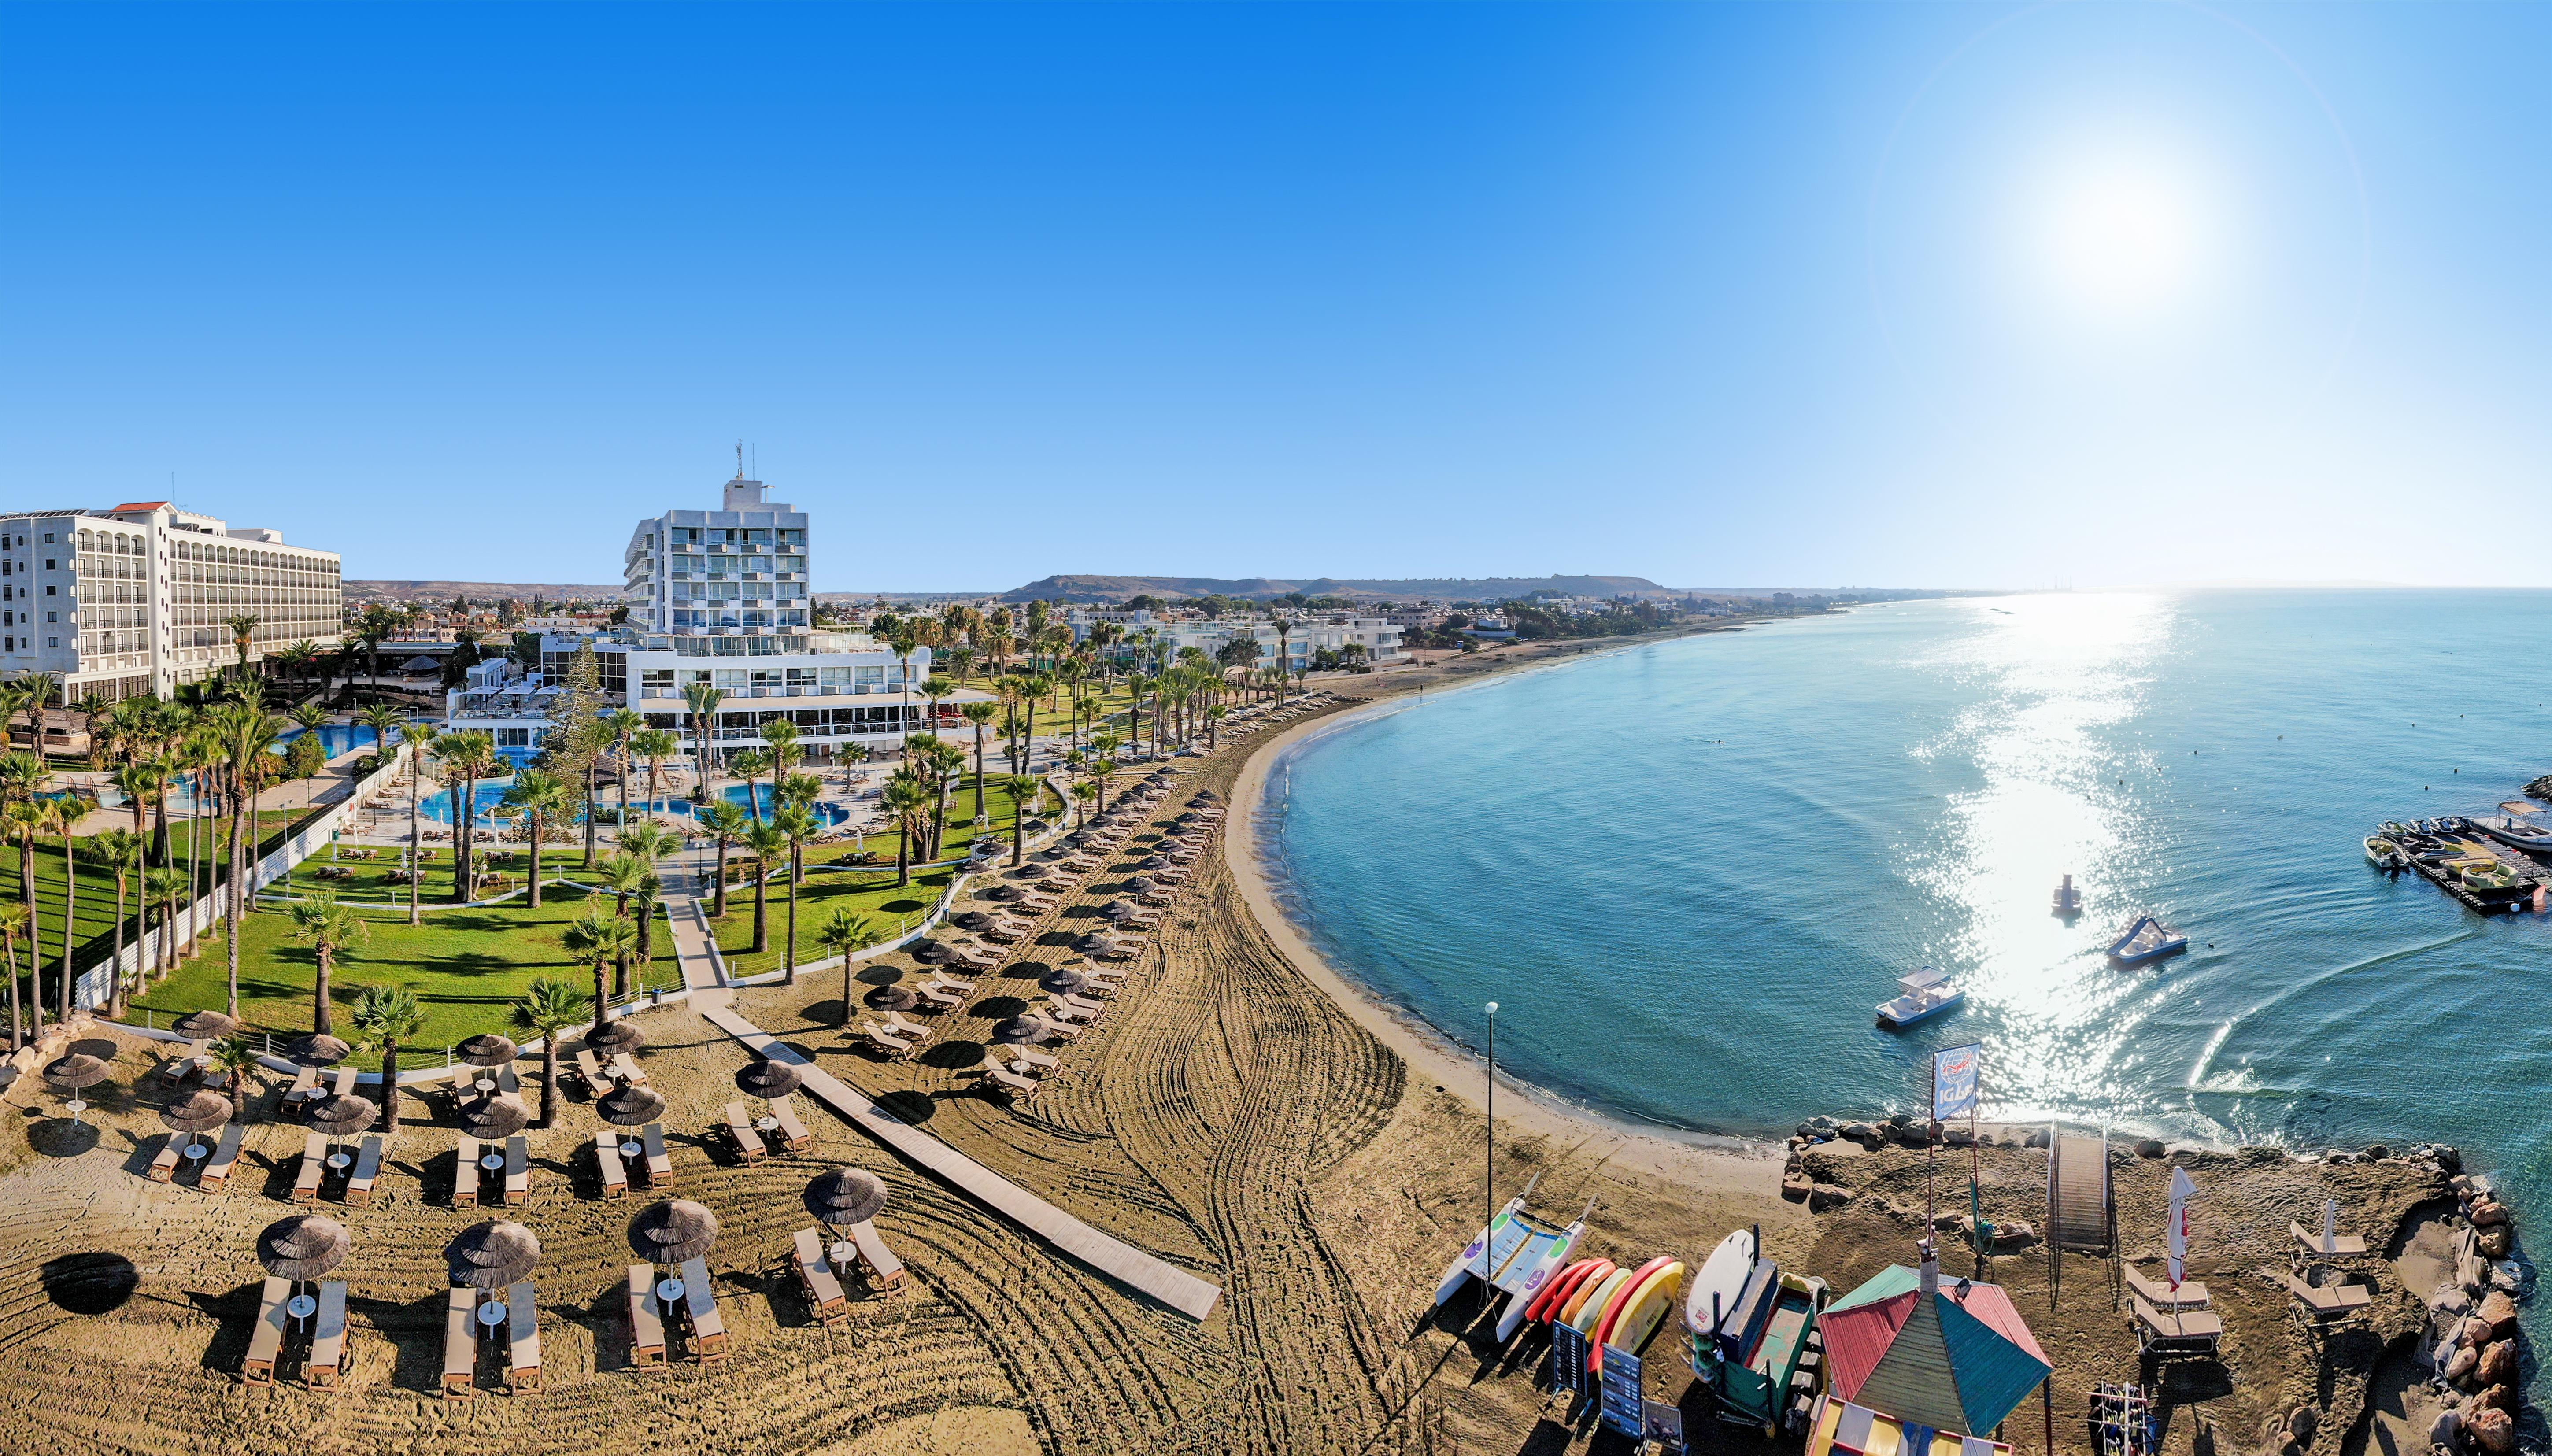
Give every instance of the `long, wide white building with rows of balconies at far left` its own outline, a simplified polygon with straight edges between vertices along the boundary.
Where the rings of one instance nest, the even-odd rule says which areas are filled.
[[[64,701],[171,694],[240,660],[345,637],[334,551],[286,546],[166,500],[0,513],[0,676],[54,673]]]

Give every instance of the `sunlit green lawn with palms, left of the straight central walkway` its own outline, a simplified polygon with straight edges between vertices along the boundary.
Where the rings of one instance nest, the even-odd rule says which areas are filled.
[[[602,898],[607,905],[610,898]],[[510,1033],[508,1007],[523,994],[533,977],[564,974],[577,984],[590,984],[584,961],[567,954],[567,923],[587,908],[579,890],[551,887],[538,910],[528,905],[495,905],[482,910],[436,910],[424,926],[408,926],[403,910],[365,913],[370,941],[350,946],[337,956],[332,1000],[337,1002],[337,1033],[347,1035],[347,1007],[365,984],[396,982],[416,987],[426,1010],[421,1048],[452,1045],[472,1033]],[[197,1007],[225,1005],[227,946],[207,936],[204,954],[181,966],[163,984],[151,987],[135,1007],[181,1015]],[[638,977],[638,966],[630,969]],[[240,938],[240,1015],[276,1033],[309,1030],[311,982],[316,961],[311,949],[291,938],[291,918],[281,910],[260,910],[248,918]],[[638,987],[679,987],[681,969],[674,964],[674,936],[656,923],[656,959],[646,966]]]

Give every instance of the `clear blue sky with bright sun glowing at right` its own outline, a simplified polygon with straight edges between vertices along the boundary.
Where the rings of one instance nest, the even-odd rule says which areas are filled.
[[[0,469],[615,581],[2552,581],[2547,5],[0,8]]]

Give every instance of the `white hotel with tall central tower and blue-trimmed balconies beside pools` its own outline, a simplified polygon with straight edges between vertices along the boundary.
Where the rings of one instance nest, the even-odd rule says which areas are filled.
[[[508,757],[541,747],[549,704],[574,660],[592,643],[602,666],[602,699],[646,714],[648,727],[676,729],[692,745],[689,683],[709,683],[717,706],[712,745],[760,745],[771,719],[789,719],[817,762],[845,745],[893,747],[929,727],[919,696],[931,671],[929,648],[906,663],[865,632],[812,625],[806,513],[763,500],[763,482],[730,479],[720,510],[669,510],[641,520],[620,553],[630,620],[584,637],[544,635],[541,671],[482,663],[470,686],[449,694],[454,729],[485,729]],[[942,719],[980,691],[942,699]]]

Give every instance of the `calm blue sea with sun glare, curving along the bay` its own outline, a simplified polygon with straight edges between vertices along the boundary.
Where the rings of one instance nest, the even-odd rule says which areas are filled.
[[[1501,1076],[1666,1130],[1927,1109],[2452,1142],[2552,1216],[2552,915],[2366,862],[2552,773],[2552,592],[1924,599],[1587,653],[1271,765],[1276,900]],[[2552,821],[2552,813],[2544,816]],[[2082,913],[2049,898],[2072,875]],[[2190,936],[2103,949],[2141,913]],[[1873,1025],[1896,977],[1968,1000]]]

